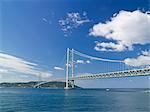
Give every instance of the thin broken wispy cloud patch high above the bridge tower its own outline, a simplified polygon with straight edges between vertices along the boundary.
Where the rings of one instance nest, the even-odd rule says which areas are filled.
[[[61,30],[64,32],[64,36],[68,36],[72,33],[72,30],[78,28],[84,23],[90,22],[87,18],[86,12],[82,14],[78,12],[67,13],[66,18],[60,19],[59,25],[61,26]]]

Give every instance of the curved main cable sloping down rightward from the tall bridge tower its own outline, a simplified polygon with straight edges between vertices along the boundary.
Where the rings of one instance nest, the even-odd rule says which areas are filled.
[[[89,58],[89,59],[92,59],[92,60],[99,60],[99,61],[105,61],[105,62],[115,62],[115,63],[124,63],[124,61],[122,61],[122,60],[103,59],[103,58],[99,58],[99,57],[95,57],[95,56],[90,56],[90,55],[81,53],[81,52],[76,51],[76,50],[74,50],[74,53],[76,55],[79,55],[79,56],[82,56],[82,57],[85,57],[85,58]]]

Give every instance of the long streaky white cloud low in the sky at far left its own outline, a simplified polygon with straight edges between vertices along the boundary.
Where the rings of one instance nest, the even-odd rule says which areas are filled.
[[[43,78],[52,76],[51,71],[41,70],[35,63],[4,53],[0,53],[0,67],[3,68],[1,72],[19,72],[34,76],[41,74]]]

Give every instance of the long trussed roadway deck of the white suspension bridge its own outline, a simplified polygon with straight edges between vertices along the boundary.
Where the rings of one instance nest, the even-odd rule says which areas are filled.
[[[133,77],[133,76],[150,76],[150,68],[136,69],[136,70],[126,70],[118,72],[109,72],[109,73],[99,73],[99,74],[81,74],[76,77],[70,77],[69,80],[88,80],[88,79],[98,79],[98,78],[121,78],[121,77]],[[65,82],[65,78],[59,78],[50,81],[41,81],[36,84],[34,87],[38,87],[42,84],[54,81]]]

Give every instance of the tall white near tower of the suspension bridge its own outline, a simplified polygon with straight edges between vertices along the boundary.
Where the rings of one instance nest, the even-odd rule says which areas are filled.
[[[70,71],[72,80],[69,79]],[[74,50],[67,48],[67,62],[66,62],[66,87],[65,89],[74,88]]]

